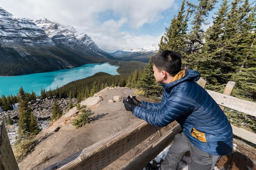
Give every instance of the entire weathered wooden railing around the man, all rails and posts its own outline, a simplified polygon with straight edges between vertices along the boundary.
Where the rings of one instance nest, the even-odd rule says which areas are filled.
[[[200,78],[197,82],[200,86],[205,87],[206,81]],[[229,96],[234,88],[234,82],[228,82],[223,94],[216,93],[207,90],[207,92],[213,97],[213,99],[220,105],[222,110],[225,107],[246,113],[256,117],[256,103],[238,99],[236,97]],[[1,127],[4,126],[1,124]],[[249,132],[243,128],[231,125],[233,128],[234,135],[243,138],[253,144],[256,144],[256,134]],[[62,161],[53,164],[45,168],[44,170],[102,170],[110,163],[117,160],[119,157],[124,155],[126,152],[140,144],[142,141],[153,135],[161,128],[152,126],[145,121],[141,120],[136,124],[119,131],[119,133],[112,135],[106,139],[103,139],[76,154],[63,159]],[[8,146],[8,142],[2,143],[1,140],[6,140],[6,135],[2,135],[2,132],[6,131],[5,128],[1,128],[0,133],[0,170],[2,164],[10,164],[15,161],[14,157],[9,157],[7,160],[7,154],[2,152],[2,144]],[[148,162],[153,160],[164,148],[171,144],[174,136],[181,131],[180,125],[177,124],[165,135],[157,139],[153,144],[148,146],[139,155],[134,157],[131,161],[126,163],[121,170],[135,170],[143,169]],[[8,139],[9,140],[9,139]],[[10,146],[8,146],[10,147]],[[7,147],[7,148],[8,148]],[[9,150],[10,151],[10,150]],[[11,151],[12,152],[12,151]],[[13,155],[13,153],[12,153]],[[2,157],[5,159],[2,160]],[[16,163],[16,162],[15,162]],[[14,164],[15,164],[14,163]],[[15,166],[16,167],[16,166]],[[17,168],[5,168],[6,170],[16,170]]]

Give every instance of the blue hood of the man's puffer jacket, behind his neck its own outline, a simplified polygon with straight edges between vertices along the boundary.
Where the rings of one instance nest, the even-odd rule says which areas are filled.
[[[196,82],[196,81],[198,81],[198,79],[200,79],[200,77],[201,77],[200,73],[198,73],[197,71],[195,71],[195,70],[186,70],[186,73],[185,73],[184,77],[182,77],[181,79],[178,79],[178,80],[176,80],[174,82],[171,82],[171,83],[160,84],[160,85],[163,86],[166,91],[170,91],[171,88],[173,88],[177,84],[180,84],[182,82],[187,82],[187,81]]]

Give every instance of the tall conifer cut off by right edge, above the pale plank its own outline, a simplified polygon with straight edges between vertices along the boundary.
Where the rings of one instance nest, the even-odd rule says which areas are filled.
[[[254,2],[255,3],[255,2]],[[236,82],[235,96],[256,100],[256,6],[245,0],[238,8],[240,20],[238,27],[241,35],[238,42],[236,72],[231,73],[231,81]]]

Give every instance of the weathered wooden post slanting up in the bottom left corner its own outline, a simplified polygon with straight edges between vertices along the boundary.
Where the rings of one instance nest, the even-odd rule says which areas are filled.
[[[0,170],[19,170],[4,122],[0,122]]]

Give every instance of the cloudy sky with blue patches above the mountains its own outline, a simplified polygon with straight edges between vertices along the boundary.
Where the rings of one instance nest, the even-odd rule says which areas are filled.
[[[197,0],[190,0],[197,3]],[[182,0],[1,0],[18,18],[45,17],[86,33],[106,52],[158,44]]]

